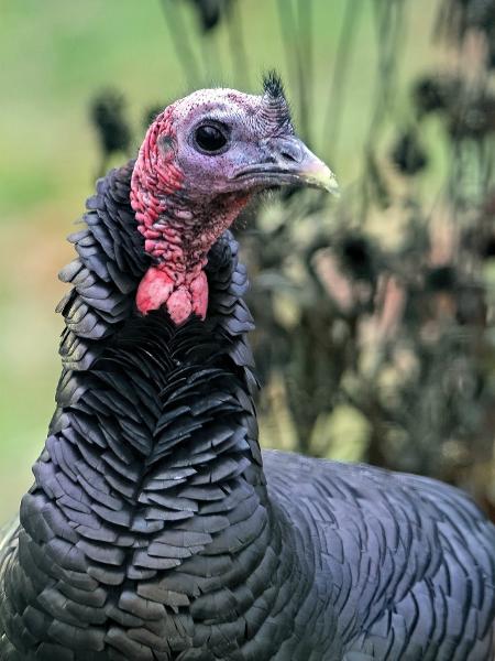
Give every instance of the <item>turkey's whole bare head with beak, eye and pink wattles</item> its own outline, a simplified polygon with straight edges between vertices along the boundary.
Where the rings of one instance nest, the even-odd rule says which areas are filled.
[[[139,311],[165,306],[177,325],[205,318],[209,249],[254,193],[275,185],[337,191],[327,165],[295,136],[276,76],[263,96],[201,89],[158,115],[132,175],[132,208],[153,258]]]

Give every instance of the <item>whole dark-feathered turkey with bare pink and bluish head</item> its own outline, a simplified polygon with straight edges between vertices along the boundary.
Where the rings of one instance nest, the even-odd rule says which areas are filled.
[[[491,659],[495,530],[465,495],[260,451],[229,227],[280,185],[336,189],[274,75],[176,101],[98,182],[0,544],[2,661]]]

